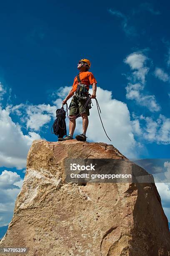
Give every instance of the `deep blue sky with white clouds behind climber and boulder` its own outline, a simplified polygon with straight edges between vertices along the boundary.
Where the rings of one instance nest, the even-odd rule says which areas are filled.
[[[50,133],[55,110],[82,58],[91,61],[111,143],[129,158],[170,158],[169,8],[168,1],[1,3],[0,192],[8,201],[0,226],[12,218],[20,191],[13,186],[22,185],[32,141],[57,140]],[[90,113],[88,141],[110,144],[95,105]],[[81,132],[77,120],[75,133]],[[169,184],[159,192],[170,220]]]

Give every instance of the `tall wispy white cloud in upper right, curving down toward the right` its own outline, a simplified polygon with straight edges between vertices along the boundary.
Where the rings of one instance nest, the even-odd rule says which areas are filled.
[[[130,82],[126,89],[126,98],[128,100],[135,100],[140,106],[148,108],[151,112],[160,110],[160,105],[155,99],[155,95],[145,95],[143,92],[145,87],[145,77],[149,72],[149,68],[145,67],[148,57],[141,52],[134,52],[124,59],[124,62],[130,66],[133,71],[127,77]]]

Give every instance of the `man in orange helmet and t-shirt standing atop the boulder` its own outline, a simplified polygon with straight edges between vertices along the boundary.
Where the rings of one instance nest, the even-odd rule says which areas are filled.
[[[75,77],[74,83],[72,85],[72,89],[68,93],[65,100],[63,100],[62,104],[66,104],[67,100],[72,97],[69,109],[69,135],[65,138],[58,138],[58,141],[66,141],[73,139],[73,133],[75,131],[75,118],[78,114],[82,117],[82,134],[75,136],[77,141],[86,141],[86,131],[88,127],[88,115],[90,115],[89,109],[90,101],[86,104],[89,97],[91,99],[95,99],[96,97],[96,79],[91,72],[90,69],[90,61],[88,59],[81,59],[77,65],[77,69],[79,69],[79,74]],[[92,85],[92,95],[89,95],[89,87]]]

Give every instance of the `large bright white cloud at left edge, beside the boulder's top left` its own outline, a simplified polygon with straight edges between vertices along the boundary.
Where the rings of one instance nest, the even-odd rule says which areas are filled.
[[[13,122],[9,108],[0,108],[0,166],[23,169],[31,143],[40,135],[28,132],[24,135],[19,124]]]

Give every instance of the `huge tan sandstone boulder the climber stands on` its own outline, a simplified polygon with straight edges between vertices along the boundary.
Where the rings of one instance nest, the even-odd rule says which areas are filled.
[[[168,220],[155,183],[65,183],[67,158],[129,164],[105,143],[34,141],[0,248],[28,248],[29,256],[170,255]]]

